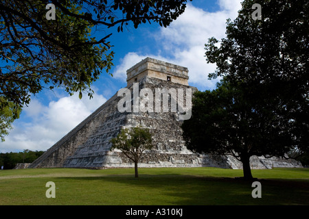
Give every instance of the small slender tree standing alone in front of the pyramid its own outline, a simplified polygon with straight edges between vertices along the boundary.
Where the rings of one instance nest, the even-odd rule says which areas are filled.
[[[122,129],[117,138],[111,140],[111,143],[113,144],[111,151],[119,149],[128,159],[134,162],[135,177],[138,177],[137,164],[144,151],[153,147],[149,129],[142,129],[141,127]]]

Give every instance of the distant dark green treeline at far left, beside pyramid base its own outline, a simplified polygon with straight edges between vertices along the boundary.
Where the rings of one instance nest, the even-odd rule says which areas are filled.
[[[17,163],[32,163],[44,152],[24,150],[19,153],[0,153],[0,167],[3,166],[4,170],[8,170],[14,168]]]

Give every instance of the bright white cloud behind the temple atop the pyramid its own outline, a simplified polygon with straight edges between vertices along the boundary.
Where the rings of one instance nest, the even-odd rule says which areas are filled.
[[[218,0],[220,10],[217,12],[206,12],[189,3],[185,12],[168,28],[152,34],[153,42],[160,49],[150,54],[127,53],[116,68],[115,78],[125,81],[126,70],[150,56],[187,67],[190,85],[200,90],[215,88],[217,81],[209,80],[208,74],[214,72],[216,65],[207,64],[205,43],[212,36],[219,40],[225,37],[227,18],[236,18],[240,3],[241,0]]]

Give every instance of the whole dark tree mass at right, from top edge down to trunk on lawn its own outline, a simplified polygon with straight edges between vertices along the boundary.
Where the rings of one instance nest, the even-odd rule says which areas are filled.
[[[262,20],[251,16],[254,3]],[[238,13],[227,21],[226,38],[205,44],[207,62],[217,66],[209,78],[223,81],[196,93],[183,128],[192,149],[231,153],[250,179],[251,155],[308,151],[309,2],[244,0]]]

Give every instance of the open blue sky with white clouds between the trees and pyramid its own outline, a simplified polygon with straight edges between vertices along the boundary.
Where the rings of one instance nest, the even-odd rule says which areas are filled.
[[[13,123],[13,129],[5,142],[0,142],[0,153],[19,152],[25,149],[45,151],[76,127],[120,88],[126,86],[126,70],[145,57],[153,57],[189,69],[189,84],[198,90],[212,90],[216,81],[207,78],[216,66],[205,61],[204,46],[208,38],[225,37],[227,18],[234,19],[240,10],[241,0],[193,0],[185,12],[170,26],[164,28],[152,23],[128,25],[118,33],[113,29],[109,39],[114,55],[111,75],[102,72],[93,83],[95,95],[89,100],[84,96],[69,96],[63,90],[43,90],[21,117]],[[108,30],[110,31],[110,30]],[[109,34],[110,32],[106,33]],[[104,34],[104,31],[96,34]],[[104,37],[104,35],[102,35]]]

